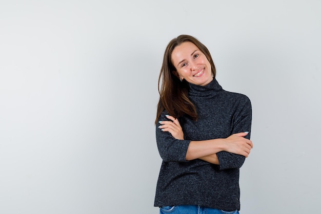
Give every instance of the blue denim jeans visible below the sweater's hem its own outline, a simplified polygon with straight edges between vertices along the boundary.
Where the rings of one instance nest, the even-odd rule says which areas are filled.
[[[239,214],[235,211],[224,211],[204,206],[195,205],[179,205],[179,206],[163,206],[159,208],[159,214]]]

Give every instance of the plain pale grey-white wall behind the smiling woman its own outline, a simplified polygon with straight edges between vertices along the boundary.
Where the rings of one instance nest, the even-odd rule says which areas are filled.
[[[158,213],[157,79],[179,34],[252,101],[241,213],[316,212],[320,11],[317,0],[0,0],[0,213]]]

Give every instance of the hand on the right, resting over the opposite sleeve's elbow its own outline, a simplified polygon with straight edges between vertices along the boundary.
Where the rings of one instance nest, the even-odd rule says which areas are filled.
[[[223,139],[226,146],[224,151],[243,155],[247,158],[253,148],[252,141],[244,138],[247,134],[247,132],[236,133]]]

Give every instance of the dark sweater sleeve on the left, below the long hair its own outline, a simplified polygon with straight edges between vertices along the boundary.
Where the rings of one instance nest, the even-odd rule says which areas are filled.
[[[164,111],[160,120],[168,120]],[[186,153],[190,140],[177,140],[169,132],[163,132],[156,124],[156,142],[160,157],[165,162],[187,162]]]

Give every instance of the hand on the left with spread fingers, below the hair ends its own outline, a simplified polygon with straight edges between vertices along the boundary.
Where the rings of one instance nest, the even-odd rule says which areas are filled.
[[[182,127],[180,126],[178,119],[172,116],[166,115],[171,121],[159,121],[159,129],[162,129],[163,132],[169,132],[177,140],[184,140],[184,133]]]

